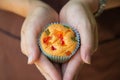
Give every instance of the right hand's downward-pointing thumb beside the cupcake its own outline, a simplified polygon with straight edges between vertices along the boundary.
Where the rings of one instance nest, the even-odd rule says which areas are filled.
[[[97,26],[90,23],[90,21],[79,30],[81,36],[81,58],[87,64],[91,63],[91,55],[98,46]],[[94,23],[96,22],[94,21]]]

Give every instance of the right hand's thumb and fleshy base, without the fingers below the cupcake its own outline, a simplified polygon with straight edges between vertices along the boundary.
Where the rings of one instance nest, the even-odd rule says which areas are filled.
[[[96,21],[85,5],[76,4],[72,7],[62,11],[60,19],[61,22],[68,23],[79,31],[81,37],[81,58],[85,63],[90,64],[91,55],[98,44]],[[74,13],[75,11],[77,13]]]

